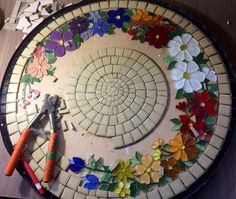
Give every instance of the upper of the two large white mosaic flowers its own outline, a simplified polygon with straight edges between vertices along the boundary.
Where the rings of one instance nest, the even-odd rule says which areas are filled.
[[[191,61],[193,57],[198,56],[200,48],[198,41],[192,35],[184,33],[174,37],[168,43],[169,55],[176,58],[176,61]]]

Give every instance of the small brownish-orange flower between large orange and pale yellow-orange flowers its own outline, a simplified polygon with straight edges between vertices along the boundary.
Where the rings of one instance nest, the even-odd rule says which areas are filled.
[[[161,166],[164,168],[164,174],[172,179],[177,178],[177,174],[181,171],[181,167],[177,164],[174,158],[161,161]]]

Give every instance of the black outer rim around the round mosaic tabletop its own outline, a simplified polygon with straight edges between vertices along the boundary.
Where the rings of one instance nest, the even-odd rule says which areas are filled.
[[[15,53],[13,54],[12,58],[10,59],[10,62],[8,64],[8,67],[6,69],[6,72],[4,74],[4,78],[1,84],[1,89],[0,89],[0,130],[3,138],[4,145],[8,151],[8,153],[12,153],[13,151],[13,146],[9,137],[8,129],[7,129],[7,124],[6,124],[6,94],[8,90],[8,85],[10,82],[11,74],[13,71],[13,67],[16,64],[17,59],[20,57],[21,53],[23,50],[27,47],[29,42],[44,28],[46,27],[50,22],[54,21],[56,18],[63,16],[65,13],[68,13],[76,8],[79,8],[81,6],[90,4],[90,3],[95,3],[95,2],[100,2],[102,0],[84,0],[80,3],[65,7],[55,14],[51,15],[50,17],[46,18],[42,23],[40,23],[36,28],[33,29],[32,32],[30,32],[27,37],[21,42]],[[143,1],[143,0],[141,0]],[[233,67],[231,63],[228,61],[228,57],[226,55],[226,52],[223,50],[223,48],[218,44],[216,39],[211,35],[211,33],[207,30],[207,28],[197,22],[193,17],[191,17],[186,11],[183,9],[180,9],[174,5],[171,5],[169,3],[163,2],[162,0],[146,0],[145,2],[148,3],[153,3],[160,5],[162,7],[165,7],[167,9],[170,9],[184,18],[188,19],[191,21],[196,27],[198,27],[207,37],[208,39],[212,42],[213,46],[216,48],[217,52],[220,54],[227,70],[227,75],[229,77],[229,82],[230,82],[230,87],[231,87],[231,93],[232,93],[232,114],[231,114],[231,121],[230,121],[230,126],[229,130],[227,132],[224,144],[222,146],[222,149],[218,153],[217,157],[211,164],[211,166],[208,168],[207,172],[205,172],[196,182],[194,182],[192,185],[187,188],[187,190],[179,193],[175,198],[183,199],[190,197],[193,193],[198,191],[202,186],[204,186],[207,181],[210,179],[211,176],[216,172],[216,169],[219,167],[221,161],[224,159],[225,154],[229,150],[229,146],[231,144],[232,136],[234,132],[236,131],[236,76],[233,71]],[[28,174],[25,172],[25,169],[21,164],[18,164],[17,166],[17,171],[20,173],[20,175],[26,179],[26,181],[31,185],[31,187],[37,192],[34,184],[32,183],[30,177]],[[45,198],[57,198],[54,196],[52,193],[46,190],[45,193]]]

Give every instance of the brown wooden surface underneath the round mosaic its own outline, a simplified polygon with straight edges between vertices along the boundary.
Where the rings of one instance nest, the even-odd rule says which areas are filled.
[[[79,0],[65,0],[78,2]],[[236,66],[236,0],[165,0],[178,5],[201,21],[226,50],[232,64]],[[15,0],[0,0],[0,8],[9,17]],[[227,25],[227,20],[231,22]],[[0,81],[16,47],[21,42],[19,31],[0,31]],[[236,68],[236,67],[235,67]],[[1,136],[0,136],[1,137]],[[15,172],[12,177],[3,176],[3,168],[9,155],[0,138],[0,196],[13,198],[40,198],[40,196]],[[192,198],[234,199],[236,198],[236,136],[219,169],[210,181]]]

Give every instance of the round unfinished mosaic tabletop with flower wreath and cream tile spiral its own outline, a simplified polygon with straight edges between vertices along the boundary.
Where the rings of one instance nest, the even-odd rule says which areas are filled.
[[[183,198],[229,146],[231,80],[223,50],[175,7],[84,1],[47,18],[13,55],[3,140],[11,153],[45,94],[58,95],[54,179],[43,182],[46,119],[23,152],[47,198]]]

